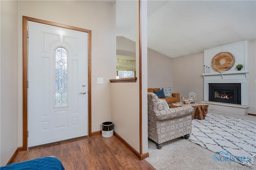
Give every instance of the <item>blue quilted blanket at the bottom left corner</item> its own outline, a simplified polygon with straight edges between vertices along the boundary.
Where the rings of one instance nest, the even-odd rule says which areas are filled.
[[[65,170],[60,160],[44,157],[0,167],[0,170]]]

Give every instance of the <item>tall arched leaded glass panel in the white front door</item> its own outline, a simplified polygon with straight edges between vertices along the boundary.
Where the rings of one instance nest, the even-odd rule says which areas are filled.
[[[58,47],[55,51],[55,106],[67,106],[68,78],[67,78],[67,51]]]

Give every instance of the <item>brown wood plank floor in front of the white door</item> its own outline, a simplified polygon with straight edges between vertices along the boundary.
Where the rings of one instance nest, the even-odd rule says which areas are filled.
[[[115,136],[104,138],[101,135],[18,152],[13,163],[44,156],[56,156],[65,170],[155,170]]]

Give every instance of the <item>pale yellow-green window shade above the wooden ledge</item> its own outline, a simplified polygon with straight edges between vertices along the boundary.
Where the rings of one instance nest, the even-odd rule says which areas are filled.
[[[118,64],[119,61],[119,64]],[[118,68],[119,65],[119,68]],[[117,71],[136,71],[136,58],[125,56],[125,55],[116,55],[116,70]]]

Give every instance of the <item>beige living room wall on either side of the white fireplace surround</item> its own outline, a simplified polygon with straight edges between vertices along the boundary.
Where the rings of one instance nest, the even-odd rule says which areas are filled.
[[[256,43],[248,41],[248,113],[256,114]],[[204,52],[173,59],[173,90],[188,98],[190,92],[196,93],[196,101],[204,100]]]

